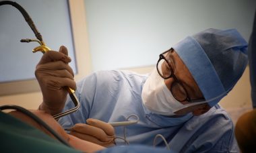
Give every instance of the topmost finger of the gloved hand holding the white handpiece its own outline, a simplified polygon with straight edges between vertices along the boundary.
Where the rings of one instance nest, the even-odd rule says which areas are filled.
[[[115,135],[115,129],[112,125],[110,125],[110,123],[106,123],[104,121],[100,121],[98,119],[92,119],[92,118],[87,119],[86,123],[102,129],[108,136]]]

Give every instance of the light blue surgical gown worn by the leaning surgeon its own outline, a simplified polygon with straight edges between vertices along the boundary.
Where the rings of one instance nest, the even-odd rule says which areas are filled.
[[[173,152],[238,152],[232,120],[219,105],[203,115],[186,115],[183,119],[146,109],[141,90],[147,77],[126,70],[90,74],[77,83],[75,93],[81,103],[79,110],[61,117],[59,123],[68,128],[75,123],[86,123],[88,118],[114,122],[125,121],[135,114],[139,122],[125,127],[129,144],[153,146],[155,136],[162,134]],[[64,110],[71,108],[73,102],[68,98]],[[115,127],[115,134],[123,137],[123,127]],[[125,145],[121,139],[116,142],[118,146]],[[164,141],[158,138],[156,146],[164,147]]]

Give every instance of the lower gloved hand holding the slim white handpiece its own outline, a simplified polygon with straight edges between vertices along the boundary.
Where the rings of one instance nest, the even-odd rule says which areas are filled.
[[[70,134],[104,147],[110,147],[115,144],[115,130],[112,125],[92,118],[87,119],[86,122],[87,124],[75,124],[69,129],[71,131]]]

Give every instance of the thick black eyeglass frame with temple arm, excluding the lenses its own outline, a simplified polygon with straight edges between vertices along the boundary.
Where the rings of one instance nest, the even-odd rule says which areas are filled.
[[[172,51],[172,50],[174,50],[173,48],[170,48],[169,50],[166,50],[165,52],[163,52],[162,54],[160,54],[159,55],[159,59],[158,59],[158,62],[156,63],[156,70],[158,70],[158,64],[159,64],[159,62],[160,62],[160,60],[162,60],[162,59],[164,59],[165,61],[166,61],[166,63],[168,64],[168,66],[170,67],[170,75],[168,76],[168,77],[164,77],[164,76],[162,76],[162,74],[160,73],[160,71],[158,70],[158,74],[160,75],[160,77],[162,77],[162,79],[164,79],[164,80],[166,80],[166,79],[170,79],[170,78],[173,78],[174,79],[174,83],[179,83],[180,85],[181,85],[181,87],[183,87],[183,89],[184,89],[184,91],[185,91],[185,93],[186,93],[186,95],[187,95],[187,97],[183,100],[183,101],[181,101],[181,100],[179,100],[179,99],[177,99],[176,97],[174,97],[174,95],[173,95],[173,97],[177,100],[177,101],[180,101],[180,102],[184,102],[184,101],[187,101],[187,102],[198,102],[198,101],[205,101],[205,99],[191,99],[190,97],[189,97],[189,94],[188,94],[188,92],[187,92],[187,89],[184,87],[184,85],[183,85],[183,83],[181,82],[181,81],[179,81],[179,79],[177,79],[177,77],[174,75],[174,70],[173,70],[173,68],[172,68],[172,65],[170,64],[170,62],[166,59],[166,57],[164,56],[164,54],[166,54],[167,52],[170,52],[170,51]],[[161,68],[162,68],[162,65],[161,65]],[[173,84],[173,83],[172,83]],[[172,93],[172,87],[170,87],[170,92]]]

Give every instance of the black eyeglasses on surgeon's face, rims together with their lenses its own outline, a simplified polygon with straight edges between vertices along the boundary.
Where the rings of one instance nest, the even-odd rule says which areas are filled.
[[[160,74],[160,76],[163,79],[169,79],[169,78],[174,79],[174,82],[172,83],[172,87],[170,87],[170,92],[172,93],[173,97],[177,99],[177,101],[191,102],[189,94],[187,93],[187,90],[185,89],[183,83],[179,81],[177,77],[174,75],[174,70],[172,68],[173,61],[170,59],[170,57],[164,56],[164,54],[171,51],[173,51],[172,48],[170,48],[170,50],[167,50],[166,52],[163,52],[162,54],[159,55],[159,60],[158,60],[158,63],[156,64],[158,74]]]

